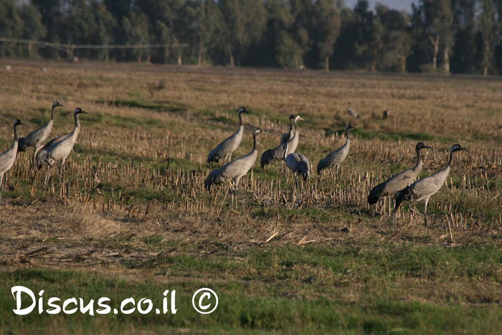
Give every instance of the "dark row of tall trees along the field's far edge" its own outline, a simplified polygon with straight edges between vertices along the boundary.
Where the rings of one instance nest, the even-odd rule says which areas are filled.
[[[502,0],[0,0],[0,37],[79,45],[79,58],[198,65],[502,74]],[[2,57],[65,57],[0,42]]]

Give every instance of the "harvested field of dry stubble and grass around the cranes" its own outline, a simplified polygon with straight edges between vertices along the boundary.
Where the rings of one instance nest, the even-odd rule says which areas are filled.
[[[73,129],[75,107],[89,113],[61,184],[59,163],[47,186],[45,167],[32,173],[32,148],[4,178],[1,333],[498,331],[500,78],[1,63],[11,70],[0,82],[0,152],[12,145],[15,119],[27,135],[47,122],[53,101],[66,107],[56,109],[50,138]],[[219,167],[207,168],[207,154],[237,130],[240,106],[253,114],[243,115],[232,159],[252,149],[253,129],[272,134],[260,137],[260,155],[279,144],[289,114],[305,120],[296,152],[313,169],[299,196],[291,173],[279,179],[280,162],[264,170],[256,162],[240,180],[237,209],[227,185],[204,189]],[[356,130],[338,178],[319,177],[317,162],[345,142],[347,123]],[[394,230],[392,199],[368,206],[366,196],[415,165],[418,141],[433,148],[421,178],[445,166],[453,144],[469,151],[455,153],[431,197],[427,232],[407,203]],[[180,306],[169,317],[34,311],[19,324],[16,285],[47,299],[109,296],[116,308],[148,294],[160,305],[164,289],[176,289]],[[190,305],[201,287],[220,299],[208,315]]]

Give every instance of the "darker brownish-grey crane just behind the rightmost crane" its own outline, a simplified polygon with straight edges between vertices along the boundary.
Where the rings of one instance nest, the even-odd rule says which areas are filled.
[[[418,142],[415,146],[415,150],[417,151],[417,164],[411,169],[400,172],[391,178],[387,179],[383,183],[380,183],[373,187],[371,191],[369,191],[367,200],[368,204],[372,205],[376,203],[380,198],[395,195],[403,188],[410,186],[415,179],[420,174],[422,170],[423,160],[422,155],[420,154],[420,150],[422,149],[432,149],[429,146],[426,146],[423,142]],[[394,203],[395,204],[395,203]],[[396,211],[393,212],[392,223],[393,227],[396,228]]]

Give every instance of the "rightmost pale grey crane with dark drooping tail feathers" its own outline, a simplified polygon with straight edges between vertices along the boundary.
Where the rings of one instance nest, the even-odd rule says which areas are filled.
[[[413,200],[408,205],[408,208],[410,208],[411,205],[414,205],[418,201],[424,200],[424,220],[425,220],[425,229],[427,230],[427,224],[428,224],[427,203],[429,202],[429,198],[431,197],[431,195],[439,191],[439,189],[443,185],[444,181],[446,180],[446,177],[448,176],[448,173],[450,172],[450,164],[453,158],[453,153],[460,150],[469,150],[469,149],[463,148],[460,144],[455,144],[450,149],[450,159],[448,160],[448,164],[446,164],[443,170],[434,173],[432,176],[419,179],[410,186],[405,187],[404,189],[399,191],[396,194],[396,205],[394,206],[394,211],[396,211],[397,208],[399,208],[399,205],[404,200]],[[410,209],[420,214],[415,209],[413,208]]]

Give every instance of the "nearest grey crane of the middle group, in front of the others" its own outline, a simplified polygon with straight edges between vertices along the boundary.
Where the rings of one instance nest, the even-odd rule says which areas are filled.
[[[235,195],[235,208],[237,208],[237,185],[239,184],[240,178],[244,176],[247,171],[249,171],[253,164],[255,164],[256,158],[258,156],[258,136],[259,135],[270,135],[267,132],[257,128],[253,131],[253,150],[247,155],[237,158],[229,163],[226,163],[221,168],[209,172],[206,181],[204,182],[205,187],[211,190],[213,184],[223,184],[229,182],[230,185],[233,181],[233,189]],[[233,207],[233,195],[232,195],[232,207]]]

